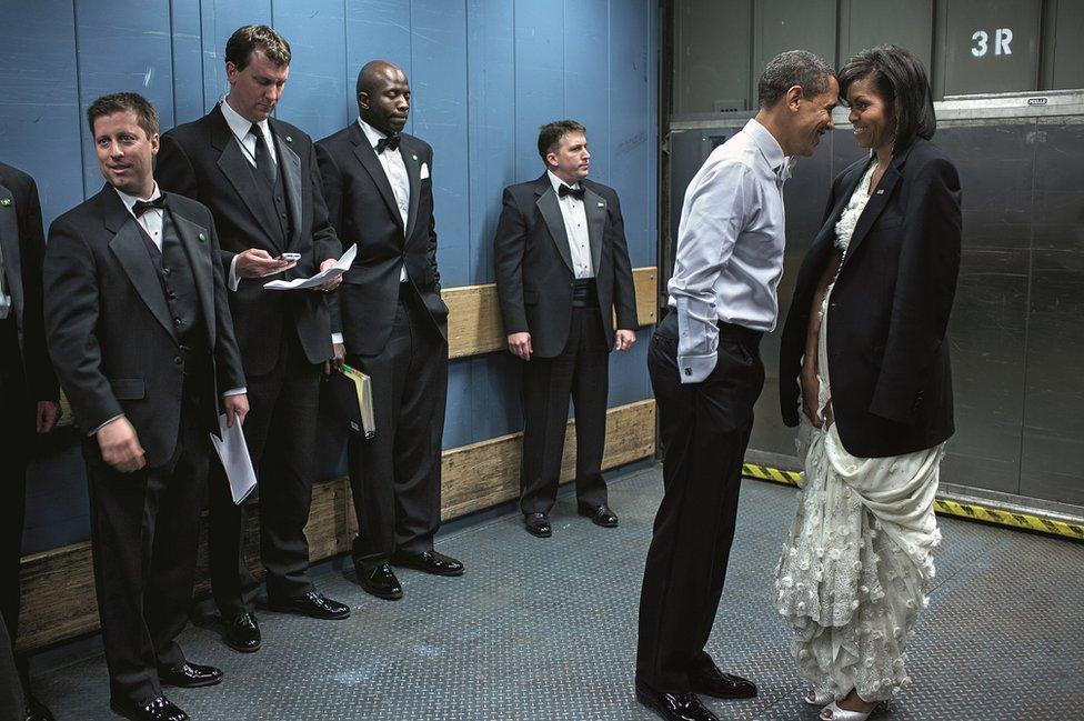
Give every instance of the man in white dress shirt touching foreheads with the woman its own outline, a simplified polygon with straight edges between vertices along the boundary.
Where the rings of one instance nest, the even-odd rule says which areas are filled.
[[[783,182],[790,158],[813,154],[832,129],[839,84],[822,59],[794,50],[769,63],[757,96],[756,117],[712,151],[685,191],[672,311],[648,356],[665,494],[644,569],[636,694],[664,719],[715,719],[696,693],[756,694],[751,681],[720,671],[704,645],[764,383],[760,339],[775,328]]]

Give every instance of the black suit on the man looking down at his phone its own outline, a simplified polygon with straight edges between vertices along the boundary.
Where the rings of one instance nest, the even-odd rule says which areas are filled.
[[[278,156],[273,187],[245,158],[215,107],[162,136],[155,178],[172,192],[210,208],[222,238],[221,261],[249,248],[271,256],[301,253],[281,277],[317,272],[341,253],[320,193],[312,140],[298,128],[269,120]],[[242,279],[230,308],[248,377],[250,412],[244,431],[260,475],[261,560],[269,592],[295,598],[308,579],[309,521],[317,443],[320,363],[332,357],[328,296],[268,291],[270,279]],[[243,509],[223,482],[210,494],[210,567],[215,601],[228,619],[254,610],[259,583],[243,558]]]

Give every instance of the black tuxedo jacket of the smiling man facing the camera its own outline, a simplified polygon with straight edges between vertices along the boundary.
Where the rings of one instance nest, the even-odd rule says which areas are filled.
[[[219,408],[221,392],[244,385],[244,372],[217,262],[214,221],[193,200],[173,193],[165,200],[188,252],[213,351],[205,402]],[[44,286],[49,353],[76,422],[90,432],[124,413],[147,464],[168,462],[177,448],[183,365],[139,224],[110,186],[49,228]]]

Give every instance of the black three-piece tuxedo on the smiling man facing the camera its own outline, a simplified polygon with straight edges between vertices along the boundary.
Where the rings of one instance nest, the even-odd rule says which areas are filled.
[[[161,694],[184,661],[200,504],[221,392],[244,385],[218,237],[202,204],[165,194],[163,246],[113,188],[58,218],[44,262],[49,352],[87,432],[91,533],[114,699]],[[191,320],[185,320],[191,319]],[[147,467],[120,473],[94,431],[124,414]]]

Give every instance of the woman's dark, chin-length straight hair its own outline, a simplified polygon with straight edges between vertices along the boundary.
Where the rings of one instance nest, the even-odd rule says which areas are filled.
[[[892,109],[896,150],[911,147],[915,138],[933,138],[937,118],[933,112],[930,80],[914,53],[890,44],[863,50],[840,70],[840,98],[845,102],[851,84],[864,78],[873,78],[876,93]]]

